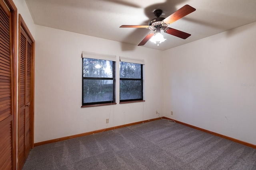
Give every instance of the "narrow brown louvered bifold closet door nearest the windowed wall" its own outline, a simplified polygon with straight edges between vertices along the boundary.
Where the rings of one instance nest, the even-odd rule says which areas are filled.
[[[32,42],[20,31],[18,168],[22,168],[31,149],[31,66]]]

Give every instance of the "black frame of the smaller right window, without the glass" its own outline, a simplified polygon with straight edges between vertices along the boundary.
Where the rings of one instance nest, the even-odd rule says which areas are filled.
[[[121,61],[120,62],[124,62],[124,63],[132,63],[132,62],[126,62],[126,61]],[[119,62],[119,66],[120,66],[120,62]],[[132,63],[132,64],[140,64],[140,78],[121,78],[119,75],[119,85],[120,85],[120,81],[121,80],[134,80],[134,81],[141,81],[141,98],[137,98],[137,99],[127,99],[127,100],[121,100],[121,93],[120,93],[120,86],[119,86],[119,102],[120,104],[124,104],[124,103],[132,103],[132,102],[145,102],[145,100],[143,100],[143,65],[141,63]],[[120,71],[120,68],[119,68]]]

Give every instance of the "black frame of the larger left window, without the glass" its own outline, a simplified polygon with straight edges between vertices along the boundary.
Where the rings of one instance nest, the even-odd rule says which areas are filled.
[[[93,59],[91,57],[82,57],[82,106],[81,107],[92,107],[92,106],[104,106],[104,105],[113,105],[116,104],[116,62],[108,59],[96,59],[96,60],[105,60],[112,62],[112,78],[100,78],[100,77],[84,77],[84,59]],[[112,80],[113,81],[113,98],[111,101],[103,101],[103,102],[90,102],[84,103],[84,80]]]

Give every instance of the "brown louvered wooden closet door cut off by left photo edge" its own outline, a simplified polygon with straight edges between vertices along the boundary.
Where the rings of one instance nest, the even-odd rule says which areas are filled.
[[[11,14],[0,0],[0,169],[12,169],[12,58]]]

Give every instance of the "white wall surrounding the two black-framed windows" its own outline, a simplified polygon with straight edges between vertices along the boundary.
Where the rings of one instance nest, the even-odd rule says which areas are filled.
[[[162,113],[162,51],[40,25],[35,30],[35,143],[156,118],[156,110]],[[117,72],[118,104],[81,108],[82,51],[116,55],[117,68],[119,56],[144,59],[146,102],[119,104]]]

